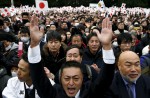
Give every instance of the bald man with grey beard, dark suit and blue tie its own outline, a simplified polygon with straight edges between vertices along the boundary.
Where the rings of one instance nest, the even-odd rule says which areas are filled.
[[[122,52],[118,69],[106,98],[150,98],[150,78],[141,75],[140,59],[136,53]]]

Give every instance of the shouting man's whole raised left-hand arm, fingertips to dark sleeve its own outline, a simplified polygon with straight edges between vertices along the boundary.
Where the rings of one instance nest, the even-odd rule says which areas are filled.
[[[28,60],[30,73],[34,87],[41,98],[53,98],[53,83],[50,83],[41,61],[40,41],[43,37],[43,29],[39,28],[38,17],[33,15],[30,23],[31,43],[28,48]],[[52,80],[51,80],[52,81]]]

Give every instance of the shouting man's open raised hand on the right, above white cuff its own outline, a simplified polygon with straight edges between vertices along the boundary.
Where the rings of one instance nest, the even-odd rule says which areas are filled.
[[[105,46],[109,48],[111,47],[113,32],[112,32],[112,23],[109,20],[109,18],[103,19],[101,33],[97,33],[97,36],[103,47]]]

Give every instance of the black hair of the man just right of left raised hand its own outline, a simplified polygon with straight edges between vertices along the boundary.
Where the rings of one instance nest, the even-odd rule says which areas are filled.
[[[61,42],[61,34],[58,33],[57,31],[53,31],[53,30],[52,31],[48,31],[47,32],[46,41],[48,42],[48,41],[50,41],[52,39],[56,39],[56,40]]]

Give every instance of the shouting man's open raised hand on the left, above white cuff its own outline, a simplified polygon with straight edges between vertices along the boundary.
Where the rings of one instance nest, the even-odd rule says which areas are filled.
[[[37,46],[43,37],[44,28],[39,29],[38,17],[33,15],[30,22],[31,48]]]

